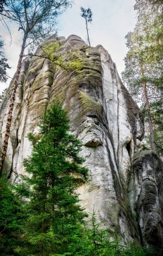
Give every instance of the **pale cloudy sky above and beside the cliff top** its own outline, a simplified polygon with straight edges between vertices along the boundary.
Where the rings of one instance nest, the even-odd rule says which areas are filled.
[[[72,8],[58,17],[58,36],[67,38],[70,34],[76,34],[87,42],[87,30],[85,20],[80,16],[80,6],[90,7],[93,12],[93,21],[89,24],[91,46],[102,44],[111,55],[120,75],[125,68],[123,59],[127,53],[125,36],[133,30],[136,22],[134,4],[135,0],[74,0]],[[15,24],[8,25],[12,42],[7,28],[2,24],[0,34],[5,42],[5,57],[11,67],[7,75],[13,77],[19,59],[22,35]],[[11,79],[7,79],[7,83],[0,83],[0,92],[9,86],[10,81]]]

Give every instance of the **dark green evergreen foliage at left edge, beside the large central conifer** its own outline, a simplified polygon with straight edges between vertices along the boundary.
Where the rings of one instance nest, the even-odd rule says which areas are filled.
[[[18,255],[22,245],[23,205],[5,177],[0,179],[0,255]]]

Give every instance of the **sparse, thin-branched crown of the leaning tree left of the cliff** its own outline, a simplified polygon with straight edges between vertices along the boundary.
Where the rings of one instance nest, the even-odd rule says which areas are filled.
[[[54,32],[56,18],[70,5],[68,0],[7,0],[1,14],[18,25],[28,40],[26,46],[36,46]]]

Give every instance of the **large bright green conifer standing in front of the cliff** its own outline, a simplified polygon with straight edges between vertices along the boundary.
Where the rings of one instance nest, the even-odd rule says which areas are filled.
[[[47,110],[40,133],[28,135],[33,152],[24,166],[30,177],[23,177],[25,184],[18,189],[30,199],[25,238],[30,243],[26,253],[32,255],[74,253],[79,243],[86,214],[75,189],[87,180],[87,168],[78,155],[81,143],[68,129],[66,112],[55,103]]]

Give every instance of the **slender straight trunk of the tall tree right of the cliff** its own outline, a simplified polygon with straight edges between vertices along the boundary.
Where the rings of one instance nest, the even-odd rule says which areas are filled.
[[[144,77],[144,68],[143,65],[140,65],[141,68],[141,72],[142,72],[142,77]],[[156,146],[155,146],[155,142],[154,142],[154,127],[152,124],[152,118],[151,118],[151,112],[150,112],[150,104],[149,104],[149,100],[148,100],[148,91],[147,91],[147,85],[146,82],[143,82],[143,89],[144,89],[144,96],[146,99],[146,109],[147,109],[147,113],[148,113],[148,123],[149,123],[149,127],[150,127],[150,142],[151,142],[151,148],[154,152],[156,152]]]

